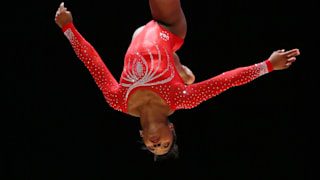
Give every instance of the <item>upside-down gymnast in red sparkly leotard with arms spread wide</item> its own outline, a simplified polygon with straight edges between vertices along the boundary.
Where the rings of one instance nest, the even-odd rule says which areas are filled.
[[[71,12],[64,3],[57,10],[55,22],[90,71],[108,104],[115,110],[140,117],[140,135],[155,159],[177,153],[174,126],[168,120],[176,110],[193,108],[231,87],[273,70],[286,69],[300,54],[298,49],[274,51],[263,62],[193,83],[195,76],[180,63],[175,53],[187,32],[180,0],[149,0],[149,4],[153,20],[134,32],[119,83],[95,49],[76,30]]]

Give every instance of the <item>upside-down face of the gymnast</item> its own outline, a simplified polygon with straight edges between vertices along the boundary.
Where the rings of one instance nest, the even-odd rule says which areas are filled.
[[[154,130],[140,131],[140,135],[150,152],[156,155],[163,155],[169,151],[172,145],[173,130],[174,126],[172,123],[170,123]]]

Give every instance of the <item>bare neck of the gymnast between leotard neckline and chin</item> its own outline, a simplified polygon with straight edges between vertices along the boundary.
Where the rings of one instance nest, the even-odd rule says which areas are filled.
[[[152,105],[146,105],[140,110],[140,123],[142,129],[155,130],[161,125],[167,125],[167,113],[163,108]]]

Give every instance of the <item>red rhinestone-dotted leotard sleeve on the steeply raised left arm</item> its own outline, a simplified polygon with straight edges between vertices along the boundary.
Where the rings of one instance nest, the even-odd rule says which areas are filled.
[[[69,39],[75,53],[91,73],[96,84],[103,92],[108,104],[116,110],[122,111],[119,106],[119,83],[112,76],[103,63],[99,54],[76,30],[73,23],[68,23],[62,28],[64,35]]]

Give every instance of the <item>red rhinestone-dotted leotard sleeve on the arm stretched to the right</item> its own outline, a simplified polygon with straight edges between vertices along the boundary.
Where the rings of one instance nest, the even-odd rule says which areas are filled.
[[[193,108],[231,87],[246,84],[271,71],[273,71],[272,64],[270,60],[266,60],[255,65],[224,72],[206,81],[186,85],[185,88],[177,92],[176,107],[177,109]]]

